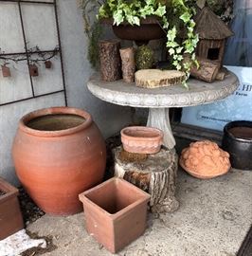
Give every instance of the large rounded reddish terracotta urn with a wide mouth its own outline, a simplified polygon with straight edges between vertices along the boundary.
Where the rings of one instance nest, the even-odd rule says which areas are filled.
[[[68,215],[81,211],[78,194],[102,181],[106,148],[87,112],[54,107],[20,120],[12,155],[35,203],[47,213]]]

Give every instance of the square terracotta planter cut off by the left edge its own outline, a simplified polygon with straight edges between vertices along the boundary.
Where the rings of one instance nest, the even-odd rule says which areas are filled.
[[[17,198],[18,190],[0,177],[0,240],[24,229],[22,213]]]

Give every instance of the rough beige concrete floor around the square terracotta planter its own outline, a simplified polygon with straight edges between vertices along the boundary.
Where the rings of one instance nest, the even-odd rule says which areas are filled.
[[[148,228],[120,256],[235,256],[252,223],[252,172],[231,170],[224,176],[199,180],[178,172],[179,210],[149,214]],[[84,229],[83,213],[69,217],[45,214],[27,227],[52,235],[51,256],[111,255]]]

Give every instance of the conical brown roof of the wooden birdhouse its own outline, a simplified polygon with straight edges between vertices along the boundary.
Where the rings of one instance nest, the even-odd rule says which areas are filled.
[[[222,40],[233,35],[225,23],[208,7],[197,13],[195,22],[195,32],[199,34],[200,39]]]

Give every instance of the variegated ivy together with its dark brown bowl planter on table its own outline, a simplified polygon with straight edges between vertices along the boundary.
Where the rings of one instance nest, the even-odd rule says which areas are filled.
[[[188,78],[190,65],[195,62],[194,50],[198,42],[198,36],[193,32],[194,14],[193,0],[106,0],[101,3],[98,18],[102,21],[110,19],[117,36],[123,39],[139,42],[166,36],[171,64],[177,70],[183,69]],[[123,27],[125,33],[121,31]],[[130,27],[136,29],[134,36]],[[183,63],[184,54],[193,62]]]

